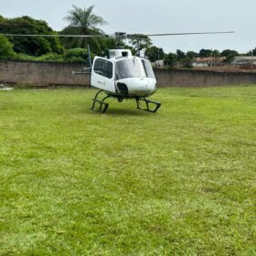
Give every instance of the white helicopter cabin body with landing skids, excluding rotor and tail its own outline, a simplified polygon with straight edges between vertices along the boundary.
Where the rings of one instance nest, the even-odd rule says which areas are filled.
[[[91,109],[95,110],[95,103],[100,103],[100,111],[106,112],[109,104],[104,101],[113,97],[119,102],[123,99],[135,99],[138,109],[142,109],[141,103],[144,101],[144,110],[156,112],[161,103],[146,99],[156,90],[155,75],[149,60],[133,56],[130,49],[110,49],[109,56],[109,59],[93,59],[91,86],[101,91],[92,100]],[[107,96],[100,101],[97,98],[101,92]]]

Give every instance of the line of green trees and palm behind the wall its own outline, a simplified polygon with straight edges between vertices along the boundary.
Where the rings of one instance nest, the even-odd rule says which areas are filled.
[[[93,13],[94,5],[80,8],[72,5],[64,17],[69,25],[61,31],[54,31],[44,20],[37,20],[30,16],[5,18],[0,16],[0,34],[42,34],[42,35],[104,35],[100,27],[107,22]],[[153,45],[147,36],[136,34],[128,40],[115,37],[5,37],[0,35],[1,59],[31,59],[50,60],[59,62],[87,62],[88,52],[86,46],[91,47],[92,56],[106,56],[109,48],[130,48],[133,54],[145,49],[147,59],[154,62],[164,59],[166,66],[174,67],[179,63],[182,67],[191,67],[192,59],[206,57],[225,57],[230,62],[237,51],[201,49],[199,52],[183,52],[177,49],[175,53],[166,54],[163,48]],[[256,48],[247,53],[256,54]]]

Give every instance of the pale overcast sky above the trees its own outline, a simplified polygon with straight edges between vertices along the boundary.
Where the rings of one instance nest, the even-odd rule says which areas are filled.
[[[246,53],[256,48],[255,0],[0,0],[0,15],[32,16],[61,30],[68,26],[63,19],[72,5],[95,5],[94,13],[102,16],[106,33],[182,33],[235,31],[234,34],[152,37],[153,44],[165,53],[181,49],[230,48]]]

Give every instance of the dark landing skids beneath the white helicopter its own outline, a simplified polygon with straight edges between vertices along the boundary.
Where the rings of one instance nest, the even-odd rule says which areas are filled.
[[[139,110],[144,110],[146,112],[157,112],[157,110],[161,107],[161,103],[160,102],[156,102],[156,101],[149,101],[145,98],[139,98],[139,97],[122,97],[120,95],[107,95],[105,96],[102,100],[99,100],[98,97],[101,94],[101,92],[105,92],[103,90],[98,91],[95,95],[95,97],[92,99],[92,105],[91,105],[91,110],[93,111],[99,111],[101,113],[104,113],[107,111],[108,107],[109,107],[109,103],[104,102],[106,99],[113,97],[113,98],[117,98],[117,100],[119,102],[122,102],[123,99],[135,99],[136,103],[137,103],[137,109]],[[142,102],[144,102],[145,107],[142,107]],[[99,107],[97,108],[96,105],[99,104]]]

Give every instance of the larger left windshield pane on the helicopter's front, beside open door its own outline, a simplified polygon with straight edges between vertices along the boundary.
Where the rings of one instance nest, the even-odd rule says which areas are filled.
[[[140,78],[140,67],[136,59],[123,59],[116,62],[116,79]]]

